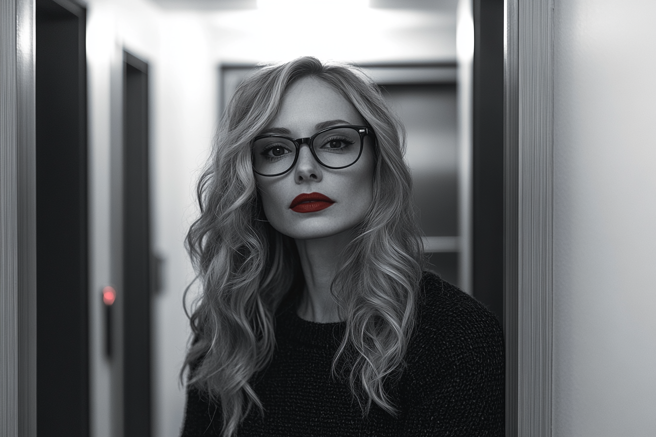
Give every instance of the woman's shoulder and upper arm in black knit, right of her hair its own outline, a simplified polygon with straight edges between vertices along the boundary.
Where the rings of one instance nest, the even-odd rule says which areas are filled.
[[[424,273],[401,393],[409,435],[502,436],[504,342],[480,302]]]

